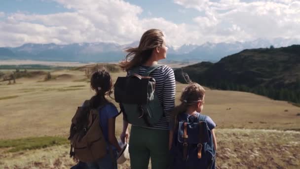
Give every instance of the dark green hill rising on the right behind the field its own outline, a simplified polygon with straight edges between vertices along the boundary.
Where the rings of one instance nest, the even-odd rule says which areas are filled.
[[[224,90],[253,92],[300,103],[300,45],[246,49],[213,64],[201,62],[175,70],[199,84]]]

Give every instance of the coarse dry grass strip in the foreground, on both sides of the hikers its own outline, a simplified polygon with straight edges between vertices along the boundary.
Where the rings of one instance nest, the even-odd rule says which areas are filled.
[[[300,132],[264,129],[218,129],[217,169],[297,169]],[[0,155],[0,168],[70,168],[69,145]],[[129,162],[119,169],[129,169]]]

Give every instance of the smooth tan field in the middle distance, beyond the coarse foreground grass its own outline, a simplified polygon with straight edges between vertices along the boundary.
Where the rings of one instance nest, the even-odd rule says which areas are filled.
[[[44,134],[67,135],[76,107],[90,98],[94,91],[86,82],[73,82],[85,78],[82,71],[65,70],[51,74],[71,76],[42,83],[37,81],[43,76],[22,78],[19,80],[22,84],[5,85],[5,88],[0,86],[2,96],[19,96],[0,101],[0,139]],[[113,81],[118,76],[125,76],[125,73],[112,73]],[[177,104],[185,86],[177,83]],[[218,128],[300,129],[300,116],[297,116],[300,107],[285,101],[275,101],[252,93],[209,88],[206,88],[205,98],[203,113],[209,115]],[[121,116],[117,118],[116,128],[121,128],[121,119]],[[22,125],[24,121],[27,122],[25,127]]]

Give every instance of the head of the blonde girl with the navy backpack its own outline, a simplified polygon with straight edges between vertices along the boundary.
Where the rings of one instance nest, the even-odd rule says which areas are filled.
[[[203,109],[205,89],[197,83],[189,84],[182,92],[180,101],[184,107],[194,108],[197,112]]]

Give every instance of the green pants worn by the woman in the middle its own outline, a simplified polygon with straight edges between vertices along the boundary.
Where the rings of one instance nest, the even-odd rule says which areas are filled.
[[[169,130],[131,127],[129,154],[131,169],[167,169],[169,166]]]

